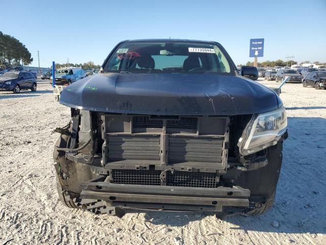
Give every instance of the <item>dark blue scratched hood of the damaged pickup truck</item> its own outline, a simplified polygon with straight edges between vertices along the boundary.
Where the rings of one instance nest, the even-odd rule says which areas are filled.
[[[277,109],[278,95],[239,76],[98,74],[66,87],[60,103],[72,108],[153,115],[236,115]]]

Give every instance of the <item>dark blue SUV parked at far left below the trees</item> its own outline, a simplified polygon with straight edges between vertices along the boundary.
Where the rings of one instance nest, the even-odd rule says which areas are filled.
[[[0,77],[0,91],[19,93],[27,89],[36,91],[36,88],[36,79],[31,72],[8,71]]]

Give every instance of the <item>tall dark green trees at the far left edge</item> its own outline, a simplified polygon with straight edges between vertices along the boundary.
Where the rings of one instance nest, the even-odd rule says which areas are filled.
[[[29,65],[33,58],[29,50],[18,39],[0,32],[0,65]]]

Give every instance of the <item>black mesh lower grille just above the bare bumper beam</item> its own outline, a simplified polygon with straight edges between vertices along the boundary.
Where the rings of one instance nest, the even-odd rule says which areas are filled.
[[[216,173],[194,171],[167,171],[161,181],[160,170],[113,169],[112,183],[129,185],[167,185],[181,187],[215,188],[218,182]]]

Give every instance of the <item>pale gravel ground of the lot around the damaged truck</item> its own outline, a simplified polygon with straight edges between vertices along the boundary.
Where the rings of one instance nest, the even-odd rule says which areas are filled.
[[[274,81],[267,85],[276,87]],[[326,91],[286,84],[281,97],[289,138],[270,212],[226,220],[184,212],[127,213],[119,219],[58,201],[51,158],[59,135],[52,131],[67,124],[70,111],[55,102],[50,85],[0,92],[0,245],[326,244]]]

